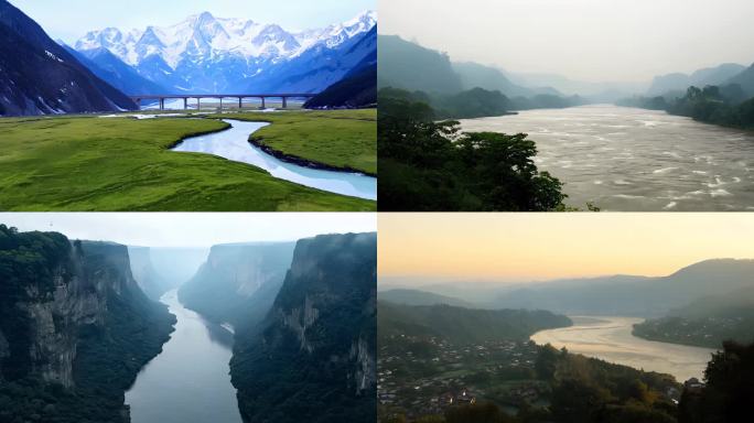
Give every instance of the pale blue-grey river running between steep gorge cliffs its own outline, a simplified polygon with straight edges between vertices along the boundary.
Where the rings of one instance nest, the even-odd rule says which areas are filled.
[[[183,307],[176,291],[161,301],[177,317],[175,332],[126,392],[132,423],[241,423],[230,384],[233,335]]]

